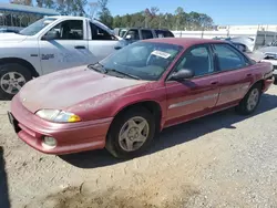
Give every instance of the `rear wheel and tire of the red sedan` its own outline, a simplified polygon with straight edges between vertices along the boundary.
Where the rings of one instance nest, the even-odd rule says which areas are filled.
[[[255,84],[245,97],[240,101],[239,105],[236,107],[236,111],[242,115],[249,115],[254,113],[259,104],[261,95],[261,84]]]

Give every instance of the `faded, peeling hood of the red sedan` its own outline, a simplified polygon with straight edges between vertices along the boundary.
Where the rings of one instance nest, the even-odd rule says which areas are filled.
[[[104,75],[81,66],[34,79],[21,89],[19,96],[32,113],[42,108],[66,111],[98,95],[147,82]]]

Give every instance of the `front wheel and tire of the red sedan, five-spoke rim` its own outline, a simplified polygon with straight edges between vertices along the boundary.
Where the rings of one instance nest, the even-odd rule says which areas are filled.
[[[155,135],[155,118],[144,107],[133,107],[112,123],[106,149],[117,158],[133,158],[142,154]]]

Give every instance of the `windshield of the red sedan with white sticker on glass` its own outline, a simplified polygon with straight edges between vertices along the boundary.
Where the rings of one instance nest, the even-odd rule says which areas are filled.
[[[156,81],[183,48],[174,44],[136,42],[100,62],[104,71],[127,74],[129,77]]]

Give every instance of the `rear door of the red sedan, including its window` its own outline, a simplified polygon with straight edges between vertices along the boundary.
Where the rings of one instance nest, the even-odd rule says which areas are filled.
[[[213,45],[219,73],[217,106],[242,100],[254,82],[253,65],[247,58],[228,43]]]

